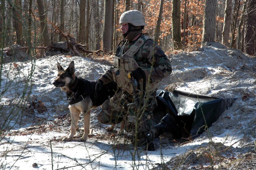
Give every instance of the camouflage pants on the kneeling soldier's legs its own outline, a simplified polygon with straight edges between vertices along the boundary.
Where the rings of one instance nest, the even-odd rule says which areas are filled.
[[[150,120],[147,121],[152,127],[153,110],[157,106],[156,103],[156,90],[148,95],[141,94],[141,99],[144,105],[138,111],[134,104],[128,105],[134,102],[134,98],[131,94],[120,90],[112,98],[106,100],[102,104],[102,110],[98,115],[99,122],[103,124],[118,124],[127,118],[127,116],[136,116],[136,119],[142,114],[150,115]],[[141,101],[142,101],[141,100]]]

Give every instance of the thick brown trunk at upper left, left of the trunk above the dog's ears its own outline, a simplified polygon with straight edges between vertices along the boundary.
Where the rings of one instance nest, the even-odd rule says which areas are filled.
[[[13,7],[13,21],[16,30],[17,44],[23,46],[22,40],[22,18],[21,18],[21,0],[15,0]]]

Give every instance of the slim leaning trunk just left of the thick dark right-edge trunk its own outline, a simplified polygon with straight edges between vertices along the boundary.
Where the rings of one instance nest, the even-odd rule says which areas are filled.
[[[242,39],[243,39],[243,32],[244,32],[244,19],[245,19],[245,12],[246,12],[246,7],[247,7],[247,3],[248,0],[246,0],[245,2],[243,2],[243,13],[242,13],[242,17],[241,20],[239,22],[238,25],[238,32],[237,32],[237,49],[242,51]]]

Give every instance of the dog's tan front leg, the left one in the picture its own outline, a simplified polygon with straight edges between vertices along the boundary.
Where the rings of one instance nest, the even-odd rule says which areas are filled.
[[[64,137],[62,141],[70,141],[74,137],[79,120],[80,111],[77,108],[71,106],[69,106],[69,109],[71,112],[71,130],[69,136]]]

